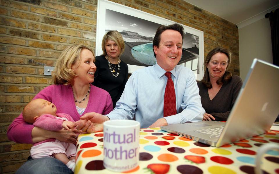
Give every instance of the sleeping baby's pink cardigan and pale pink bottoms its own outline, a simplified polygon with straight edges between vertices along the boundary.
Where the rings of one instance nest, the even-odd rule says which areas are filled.
[[[49,131],[59,131],[63,128],[62,123],[64,120],[74,122],[70,115],[57,113],[56,117],[50,114],[41,115],[33,125]],[[57,139],[51,138],[35,143],[30,151],[33,159],[53,157],[54,153],[64,153],[68,158],[76,156],[76,146],[72,143],[60,142]]]

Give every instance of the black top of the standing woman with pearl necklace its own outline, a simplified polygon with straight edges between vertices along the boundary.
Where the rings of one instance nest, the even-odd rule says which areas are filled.
[[[124,61],[119,63],[120,70],[117,77],[114,77],[110,72],[108,61],[105,56],[96,56],[95,65],[97,70],[94,74],[94,82],[92,84],[110,93],[113,108],[115,108],[115,104],[121,97],[128,80],[128,65]],[[119,65],[112,64],[112,67],[115,67],[115,75],[117,74]]]

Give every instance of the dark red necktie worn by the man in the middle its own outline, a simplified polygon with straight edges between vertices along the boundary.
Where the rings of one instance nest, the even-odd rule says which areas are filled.
[[[165,75],[168,77],[168,82],[165,89],[164,95],[164,117],[176,114],[176,98],[174,90],[174,82],[171,79],[171,73],[166,72]]]

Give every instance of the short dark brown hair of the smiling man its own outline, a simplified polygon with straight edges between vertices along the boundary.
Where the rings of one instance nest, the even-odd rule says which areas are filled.
[[[157,46],[159,47],[159,44],[160,44],[160,41],[161,41],[161,34],[162,32],[164,32],[165,30],[175,30],[175,31],[178,31],[181,36],[182,36],[182,41],[183,41],[183,35],[184,35],[184,28],[182,25],[178,24],[178,23],[175,23],[175,24],[171,24],[171,25],[168,25],[168,26],[165,26],[165,25],[161,25],[157,31],[156,31],[156,34],[154,36],[154,39],[153,39],[153,53],[154,53],[154,56],[156,57],[156,54],[154,52],[154,46]]]

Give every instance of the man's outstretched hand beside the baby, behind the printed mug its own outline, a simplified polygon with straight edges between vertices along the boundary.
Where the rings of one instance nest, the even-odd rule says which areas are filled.
[[[107,120],[109,120],[107,116],[91,112],[80,117],[80,120],[75,122],[75,126],[77,130],[87,133],[100,132],[103,131],[103,122]]]

